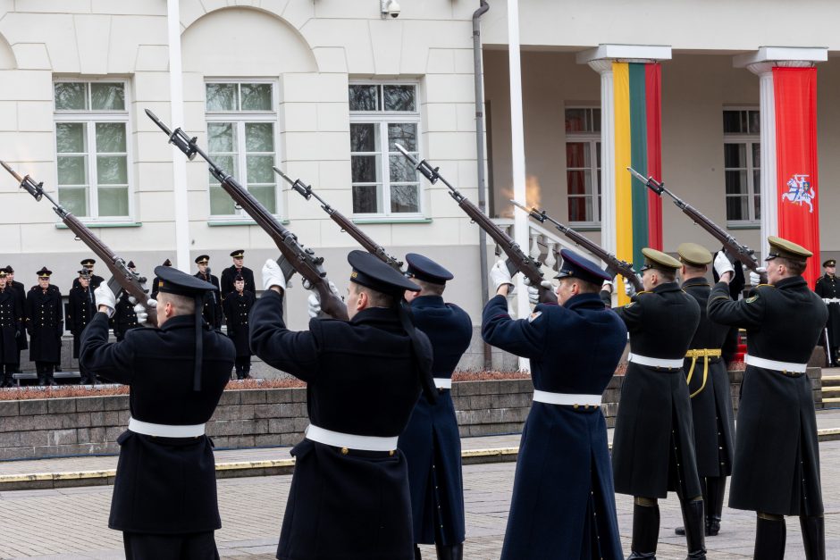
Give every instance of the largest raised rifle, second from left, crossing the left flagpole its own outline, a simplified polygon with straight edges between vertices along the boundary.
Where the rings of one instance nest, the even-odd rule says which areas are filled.
[[[169,137],[170,144],[173,144],[181,150],[189,161],[192,161],[196,155],[200,155],[206,161],[207,165],[209,165],[210,174],[221,183],[224,192],[228,193],[256,221],[256,224],[273,239],[274,244],[281,252],[281,257],[277,259],[277,263],[280,265],[286,280],[289,280],[292,274],[298,272],[318,292],[323,313],[335,319],[346,321],[348,318],[347,306],[330,289],[330,281],[327,280],[327,273],[323,270],[323,257],[315,255],[315,251],[312,249],[303,247],[298,241],[297,236],[290,230],[284,228],[280,221],[264,205],[256,200],[254,195],[242,187],[238,180],[228,175],[227,172],[216,165],[210,159],[210,156],[206,155],[205,151],[198,146],[197,137],[189,138],[187,133],[181,130],[180,127],[175,130],[170,130],[163,121],[157,118],[155,113],[152,113],[148,109],[146,110],[146,114],[149,119],[155,121],[155,124],[166,133],[166,136]]]

